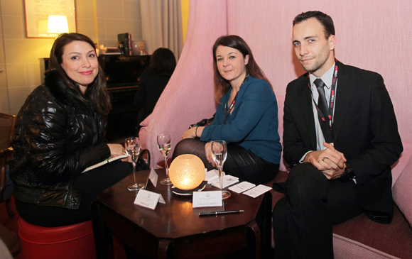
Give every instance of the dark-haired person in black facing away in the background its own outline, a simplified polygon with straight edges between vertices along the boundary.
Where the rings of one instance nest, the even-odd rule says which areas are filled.
[[[168,48],[158,48],[151,56],[147,70],[141,73],[139,87],[134,97],[134,107],[141,109],[137,120],[137,132],[141,121],[152,113],[175,67],[176,58],[173,52]]]

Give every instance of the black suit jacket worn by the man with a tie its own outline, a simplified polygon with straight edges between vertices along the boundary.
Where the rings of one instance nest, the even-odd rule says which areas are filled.
[[[394,106],[381,75],[340,62],[337,65],[334,145],[354,169],[357,199],[365,214],[389,223],[394,213],[391,165],[403,150]],[[291,166],[316,150],[312,102],[308,73],[288,84],[283,157]]]

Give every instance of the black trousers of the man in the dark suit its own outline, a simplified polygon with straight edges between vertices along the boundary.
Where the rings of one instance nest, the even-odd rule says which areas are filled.
[[[310,163],[293,167],[273,209],[275,258],[333,258],[332,225],[362,214],[355,186],[327,180]]]

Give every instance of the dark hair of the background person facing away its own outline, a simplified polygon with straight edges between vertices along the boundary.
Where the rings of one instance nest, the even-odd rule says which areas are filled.
[[[175,67],[176,58],[172,50],[158,48],[151,56],[147,70],[156,75],[172,75]]]

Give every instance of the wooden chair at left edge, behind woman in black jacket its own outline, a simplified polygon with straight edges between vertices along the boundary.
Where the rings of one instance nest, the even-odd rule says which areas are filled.
[[[6,210],[10,219],[14,216],[10,207],[11,195],[4,197],[4,191],[6,190],[6,165],[13,157],[11,140],[15,121],[16,116],[0,113],[0,202],[6,202]]]

